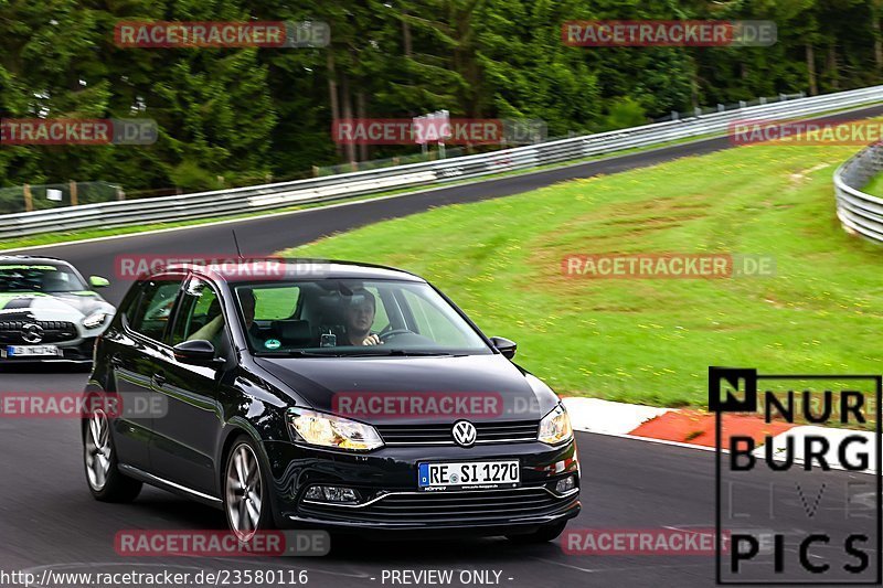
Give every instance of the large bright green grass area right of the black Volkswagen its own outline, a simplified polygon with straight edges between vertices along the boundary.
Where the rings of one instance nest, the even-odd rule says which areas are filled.
[[[831,174],[854,147],[753,146],[453,205],[286,255],[421,274],[560,393],[705,406],[709,365],[879,373],[883,249],[847,235]],[[565,278],[591,253],[775,256],[738,279]]]

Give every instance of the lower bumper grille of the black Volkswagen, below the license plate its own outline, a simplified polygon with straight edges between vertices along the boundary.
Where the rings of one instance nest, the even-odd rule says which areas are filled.
[[[464,492],[402,492],[387,494],[365,506],[342,507],[300,503],[300,512],[374,523],[512,522],[565,511],[575,495],[558,498],[543,487]]]

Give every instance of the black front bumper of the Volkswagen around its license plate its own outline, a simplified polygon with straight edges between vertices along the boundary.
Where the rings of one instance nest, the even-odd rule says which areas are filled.
[[[290,442],[264,443],[273,474],[274,518],[280,528],[334,528],[421,536],[530,533],[579,513],[579,471],[575,441],[561,447],[531,441],[460,447],[386,447],[364,455]],[[496,490],[424,492],[417,464],[432,461],[518,459],[521,483]],[[576,489],[555,484],[574,475]],[[315,484],[354,489],[358,504],[308,501]]]

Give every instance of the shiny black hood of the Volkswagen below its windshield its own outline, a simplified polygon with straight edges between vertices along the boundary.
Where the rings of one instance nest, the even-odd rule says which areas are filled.
[[[255,357],[255,362],[310,407],[374,424],[536,420],[558,402],[536,377],[497,354]],[[396,400],[392,411],[368,402],[384,394]],[[479,396],[481,403],[464,404],[468,396]]]

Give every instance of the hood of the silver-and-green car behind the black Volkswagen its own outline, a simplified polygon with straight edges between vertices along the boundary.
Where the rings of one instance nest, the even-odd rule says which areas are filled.
[[[93,312],[114,313],[114,307],[93,291],[0,292],[0,320],[78,322]]]

